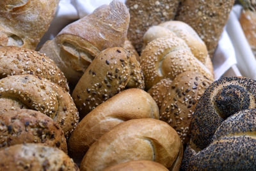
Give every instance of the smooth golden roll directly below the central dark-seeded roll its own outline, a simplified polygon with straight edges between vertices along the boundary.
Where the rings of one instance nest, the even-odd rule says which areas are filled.
[[[154,99],[141,89],[127,89],[86,115],[73,131],[68,149],[73,158],[83,158],[93,142],[117,124],[129,119],[159,119],[159,109]]]

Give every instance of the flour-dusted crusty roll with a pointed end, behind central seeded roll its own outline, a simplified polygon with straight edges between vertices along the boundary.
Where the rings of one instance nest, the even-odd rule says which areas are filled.
[[[49,56],[74,86],[99,52],[123,47],[129,17],[125,4],[114,0],[66,26],[40,52]]]

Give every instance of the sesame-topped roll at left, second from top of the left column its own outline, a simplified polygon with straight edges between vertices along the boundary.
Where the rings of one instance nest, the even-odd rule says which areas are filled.
[[[34,75],[13,75],[2,78],[0,99],[2,103],[7,104],[6,106],[10,106],[8,105],[10,100],[18,101],[13,102],[16,104],[15,107],[0,109],[2,112],[30,108],[48,115],[60,124],[66,138],[69,137],[79,120],[76,105],[70,94],[57,84]],[[19,103],[21,106],[17,105]]]

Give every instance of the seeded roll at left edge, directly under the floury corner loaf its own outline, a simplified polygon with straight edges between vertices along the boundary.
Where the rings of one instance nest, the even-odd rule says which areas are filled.
[[[0,78],[9,75],[36,75],[69,91],[67,79],[49,57],[21,47],[0,47]]]

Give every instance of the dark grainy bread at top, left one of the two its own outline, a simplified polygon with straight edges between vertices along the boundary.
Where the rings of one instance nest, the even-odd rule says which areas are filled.
[[[150,26],[173,20],[180,0],[126,0],[131,15],[127,37],[136,50],[141,52],[143,35]]]

